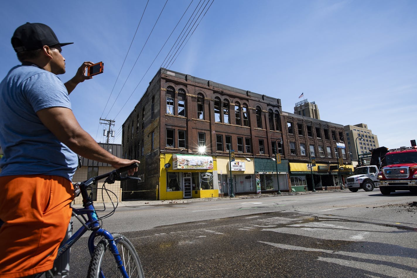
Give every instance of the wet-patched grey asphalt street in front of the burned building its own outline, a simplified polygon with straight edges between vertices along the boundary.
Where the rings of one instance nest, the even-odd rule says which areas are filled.
[[[120,207],[146,277],[417,277],[417,195],[347,190]],[[84,277],[87,237],[72,248]]]

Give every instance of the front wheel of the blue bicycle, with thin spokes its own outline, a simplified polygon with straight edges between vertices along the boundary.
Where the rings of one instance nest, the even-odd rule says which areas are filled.
[[[143,278],[143,269],[138,253],[132,243],[121,234],[112,234],[115,240],[118,240],[117,249],[126,268],[128,276],[131,278]],[[122,273],[117,267],[111,249],[108,247],[106,239],[100,240],[94,249],[93,257],[88,268],[89,278],[112,278],[123,277]]]

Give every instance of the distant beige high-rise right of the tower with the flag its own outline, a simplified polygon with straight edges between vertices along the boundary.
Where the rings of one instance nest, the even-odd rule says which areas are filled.
[[[367,124],[344,126],[347,145],[352,160],[358,160],[358,154],[370,153],[371,149],[379,148],[378,137],[368,129]]]

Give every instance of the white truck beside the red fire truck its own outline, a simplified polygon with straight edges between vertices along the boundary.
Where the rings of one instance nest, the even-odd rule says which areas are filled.
[[[378,173],[378,167],[375,165],[357,167],[354,175],[346,179],[345,187],[352,192],[357,192],[361,188],[372,191],[378,186]]]

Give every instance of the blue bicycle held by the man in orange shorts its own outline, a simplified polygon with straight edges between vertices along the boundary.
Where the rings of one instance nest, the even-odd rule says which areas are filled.
[[[88,267],[88,278],[144,277],[141,261],[132,243],[121,234],[111,234],[107,230],[104,230],[99,223],[100,220],[112,215],[117,205],[115,207],[113,204],[112,212],[103,217],[98,217],[93,206],[93,200],[87,191],[93,183],[104,178],[106,178],[104,184],[112,184],[116,180],[139,179],[137,177],[121,176],[121,173],[135,167],[138,167],[137,163],[74,184],[75,195],[78,196],[81,194],[83,196],[83,207],[79,209],[73,208],[73,216],[81,222],[82,226],[65,243],[61,244],[55,261],[69,250],[85,232],[90,230],[92,233],[88,238],[88,250],[90,251],[91,260]],[[106,188],[103,190],[109,191]],[[102,237],[102,239],[95,244],[97,237]],[[43,273],[35,275],[35,278],[39,278],[41,275]],[[52,271],[49,270],[46,272],[45,276],[53,277]]]

